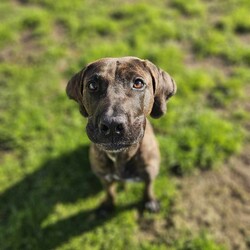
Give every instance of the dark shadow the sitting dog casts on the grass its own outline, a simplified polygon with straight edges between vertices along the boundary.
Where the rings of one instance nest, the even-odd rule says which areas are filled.
[[[13,174],[13,173],[12,173]],[[82,212],[46,226],[46,218],[58,204],[74,204],[102,190],[90,169],[88,146],[46,161],[37,171],[0,195],[0,240],[9,249],[54,249],[71,237],[102,225],[95,210]],[[114,213],[134,205],[120,207]]]

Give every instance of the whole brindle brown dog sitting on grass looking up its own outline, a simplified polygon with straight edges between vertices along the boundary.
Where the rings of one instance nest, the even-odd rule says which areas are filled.
[[[143,181],[143,209],[159,211],[153,181],[160,153],[147,117],[164,115],[176,89],[168,73],[137,57],[97,60],[68,82],[68,97],[88,119],[91,168],[106,190],[99,211],[113,211],[117,181]]]

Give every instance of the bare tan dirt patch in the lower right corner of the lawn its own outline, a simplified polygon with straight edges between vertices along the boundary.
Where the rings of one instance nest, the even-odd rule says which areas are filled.
[[[217,171],[179,180],[174,230],[204,229],[232,250],[250,247],[250,146]]]

